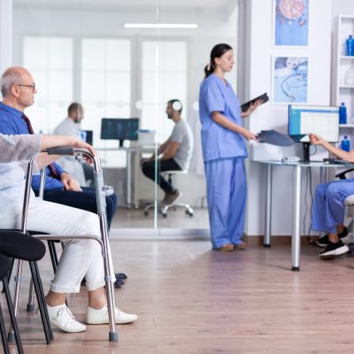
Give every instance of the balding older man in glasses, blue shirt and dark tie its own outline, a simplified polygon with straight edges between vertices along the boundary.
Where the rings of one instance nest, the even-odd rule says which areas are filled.
[[[34,134],[33,128],[27,116],[23,111],[34,104],[37,89],[35,83],[32,85],[19,84],[32,78],[31,74],[23,67],[12,66],[8,68],[1,77],[1,90],[3,102],[0,103],[0,134],[4,135],[22,135]],[[28,90],[28,96],[18,95],[12,90],[13,86],[22,90]],[[82,188],[73,177],[66,173],[59,165],[52,163],[46,167],[46,183],[44,200],[72,206],[87,212],[97,212],[95,189]],[[32,189],[38,195],[41,177],[33,176]],[[117,209],[117,196],[107,196],[106,212],[108,227],[111,227],[113,215]],[[123,280],[127,278],[124,273],[116,274],[117,281],[114,284],[116,288],[124,284]]]

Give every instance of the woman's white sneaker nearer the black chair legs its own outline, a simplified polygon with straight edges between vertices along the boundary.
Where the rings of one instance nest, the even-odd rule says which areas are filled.
[[[82,325],[82,323],[74,318],[73,313],[65,304],[59,304],[58,306],[50,306],[47,304],[47,309],[50,316],[50,323],[60,328],[62,331],[74,333],[86,330],[86,326]],[[37,313],[39,313],[39,310],[37,310]]]

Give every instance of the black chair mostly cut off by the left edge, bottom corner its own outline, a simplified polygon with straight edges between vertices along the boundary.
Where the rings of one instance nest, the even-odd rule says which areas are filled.
[[[11,262],[7,257],[0,254],[0,281],[3,281],[3,285],[4,285],[4,294],[6,296],[6,304],[9,309],[10,319],[14,330],[17,350],[19,354],[22,354],[23,353],[22,342],[19,336],[19,327],[17,325],[15,312],[13,311],[12,298],[11,298],[8,279],[7,279],[7,273],[9,272],[10,263]],[[1,331],[1,339],[3,341],[4,354],[10,354],[9,343],[7,342],[7,337],[6,337],[4,316],[3,316],[3,311],[1,309],[1,306],[0,306],[0,331]]]

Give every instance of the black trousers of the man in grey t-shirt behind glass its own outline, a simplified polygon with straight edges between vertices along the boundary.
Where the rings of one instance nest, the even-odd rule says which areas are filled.
[[[173,185],[165,180],[165,178],[161,175],[161,172],[164,171],[181,171],[181,167],[174,161],[173,158],[169,158],[168,160],[159,160],[158,161],[147,161],[142,165],[142,173],[145,174],[146,177],[150,178],[151,181],[155,181],[155,164],[158,162],[158,179],[157,183],[164,190],[165,193],[173,193]]]

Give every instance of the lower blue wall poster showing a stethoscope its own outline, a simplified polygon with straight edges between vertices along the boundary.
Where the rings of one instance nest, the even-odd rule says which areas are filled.
[[[273,104],[306,104],[308,58],[273,57]]]

